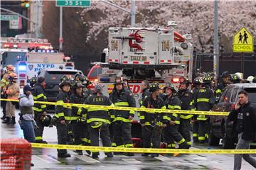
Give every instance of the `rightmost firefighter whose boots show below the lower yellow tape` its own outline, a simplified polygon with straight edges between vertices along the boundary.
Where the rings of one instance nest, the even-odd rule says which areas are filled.
[[[151,96],[145,98],[142,102],[141,108],[159,108],[166,110],[163,99],[159,97],[159,86],[158,84],[152,83],[149,86],[149,91],[152,93]],[[153,148],[160,147],[161,131],[166,127],[167,119],[166,113],[148,113],[142,111],[139,116],[140,123],[142,125],[142,140],[143,147],[150,148],[151,143]],[[142,157],[149,156],[149,153],[142,154]],[[159,154],[151,154],[151,157],[158,157]]]

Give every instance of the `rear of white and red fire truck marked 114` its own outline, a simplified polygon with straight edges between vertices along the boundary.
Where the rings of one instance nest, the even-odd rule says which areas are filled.
[[[174,24],[169,22],[166,28],[109,28],[104,59],[92,67],[88,78],[93,69],[100,73],[97,82],[105,86],[103,92],[108,95],[114,87],[114,79],[125,75],[137,106],[143,80],[158,81],[160,86],[171,83],[178,88],[180,77],[192,79],[193,45],[191,35],[177,33]]]

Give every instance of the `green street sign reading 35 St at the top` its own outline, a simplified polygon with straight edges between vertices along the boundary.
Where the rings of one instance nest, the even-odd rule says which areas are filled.
[[[89,7],[90,0],[56,0],[56,6]]]

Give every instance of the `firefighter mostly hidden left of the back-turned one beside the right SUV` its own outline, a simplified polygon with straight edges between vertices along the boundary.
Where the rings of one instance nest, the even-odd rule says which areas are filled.
[[[196,79],[193,80],[193,101],[196,101],[196,96],[199,92],[199,90],[202,88],[203,79],[201,77],[196,77]],[[196,111],[196,108],[193,107],[192,110]],[[193,142],[198,142],[198,121],[197,121],[197,115],[193,115],[191,122],[192,130],[193,130]]]

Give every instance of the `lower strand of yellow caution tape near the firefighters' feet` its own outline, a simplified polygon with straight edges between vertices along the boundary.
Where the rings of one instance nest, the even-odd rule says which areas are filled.
[[[32,147],[51,149],[90,150],[92,152],[134,152],[157,154],[256,154],[256,149],[153,149],[137,147],[92,147],[80,145],[57,145],[31,143]]]

